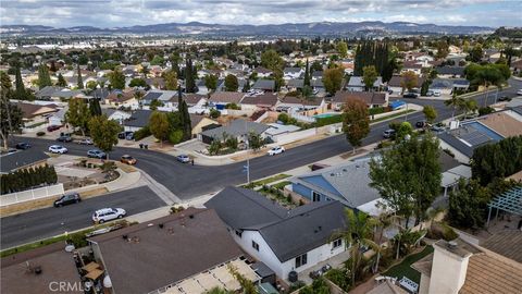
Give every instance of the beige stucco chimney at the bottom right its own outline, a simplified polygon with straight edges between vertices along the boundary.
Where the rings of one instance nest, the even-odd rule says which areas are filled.
[[[432,275],[428,294],[458,294],[465,281],[472,254],[456,241],[433,244]]]

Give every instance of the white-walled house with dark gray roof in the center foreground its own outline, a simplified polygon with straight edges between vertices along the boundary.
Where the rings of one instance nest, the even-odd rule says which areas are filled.
[[[254,191],[229,186],[204,206],[215,209],[246,253],[281,279],[346,250],[341,238],[332,240],[345,228],[345,207],[338,201],[287,210]]]

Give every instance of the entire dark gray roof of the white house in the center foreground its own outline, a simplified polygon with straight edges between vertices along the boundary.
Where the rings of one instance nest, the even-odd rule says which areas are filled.
[[[330,242],[345,228],[345,207],[339,201],[286,210],[257,192],[226,187],[204,206],[235,230],[259,231],[282,262]]]

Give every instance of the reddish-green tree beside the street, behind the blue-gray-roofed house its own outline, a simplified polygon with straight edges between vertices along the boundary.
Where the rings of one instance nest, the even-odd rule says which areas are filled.
[[[370,117],[364,101],[349,100],[345,106],[343,131],[346,139],[356,148],[361,146],[362,139],[370,134]]]

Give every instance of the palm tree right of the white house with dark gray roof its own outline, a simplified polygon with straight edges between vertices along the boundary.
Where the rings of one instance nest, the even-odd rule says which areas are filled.
[[[350,252],[351,259],[351,283],[356,284],[356,272],[361,266],[361,256],[363,247],[370,247],[377,252],[377,244],[373,242],[373,229],[376,224],[375,219],[369,217],[366,213],[346,208],[346,229],[341,232],[334,233],[333,238],[341,237],[345,241],[345,246]],[[349,247],[348,247],[349,246]]]

